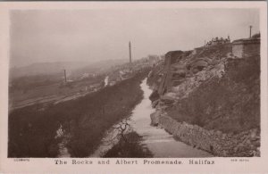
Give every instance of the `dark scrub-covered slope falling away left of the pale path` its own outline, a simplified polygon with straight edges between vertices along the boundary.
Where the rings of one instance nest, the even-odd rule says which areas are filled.
[[[73,157],[86,157],[100,143],[105,130],[128,116],[142,99],[139,87],[148,70],[113,87],[79,99],[50,105],[45,111],[38,104],[14,110],[9,114],[9,157],[55,157],[60,139],[56,130],[70,135],[67,148]]]

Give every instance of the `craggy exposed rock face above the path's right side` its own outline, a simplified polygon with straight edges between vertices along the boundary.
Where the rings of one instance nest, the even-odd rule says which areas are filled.
[[[205,79],[221,77],[226,61],[225,55],[230,53],[231,46],[224,46],[222,53],[209,53],[211,49],[213,48],[199,49],[199,52],[195,53],[168,52],[165,54],[164,62],[155,66],[155,70],[150,73],[149,85],[153,86],[159,95],[175,92],[181,97],[180,90],[183,90],[183,95],[187,96],[188,91],[198,87]],[[205,57],[206,54],[209,54],[209,57]],[[215,63],[217,66],[214,66]]]

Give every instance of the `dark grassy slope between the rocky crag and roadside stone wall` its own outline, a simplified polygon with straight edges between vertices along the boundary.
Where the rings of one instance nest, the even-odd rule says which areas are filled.
[[[168,110],[172,118],[238,133],[260,127],[260,57],[229,60],[222,79],[208,79]]]

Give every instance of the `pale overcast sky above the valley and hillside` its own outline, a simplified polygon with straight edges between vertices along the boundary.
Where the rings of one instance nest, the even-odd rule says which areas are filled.
[[[237,39],[259,32],[255,9],[136,9],[12,11],[11,64],[165,54],[203,46],[212,37]]]

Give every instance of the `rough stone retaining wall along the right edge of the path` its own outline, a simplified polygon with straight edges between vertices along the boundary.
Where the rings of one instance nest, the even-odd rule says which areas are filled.
[[[151,114],[152,125],[160,126],[181,142],[193,145],[215,156],[260,156],[260,136],[256,128],[239,134],[225,134],[219,130],[206,130],[197,125],[178,122],[157,111]]]

